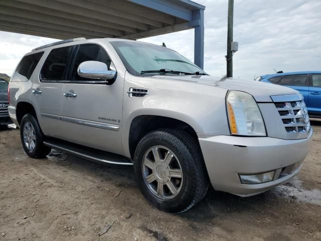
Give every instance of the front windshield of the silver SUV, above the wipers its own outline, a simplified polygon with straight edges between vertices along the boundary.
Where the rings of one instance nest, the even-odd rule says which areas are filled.
[[[163,46],[128,41],[112,41],[110,44],[132,75],[205,73],[184,56]]]

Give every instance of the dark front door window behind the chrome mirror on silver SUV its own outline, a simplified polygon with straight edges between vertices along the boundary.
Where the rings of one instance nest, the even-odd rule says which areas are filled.
[[[108,69],[110,69],[111,60],[107,55],[106,51],[102,47],[96,44],[83,44],[79,46],[79,49],[77,51],[74,65],[71,71],[71,80],[81,80],[81,81],[92,80],[92,79],[80,77],[77,73],[78,66],[84,61],[103,62],[107,65]]]

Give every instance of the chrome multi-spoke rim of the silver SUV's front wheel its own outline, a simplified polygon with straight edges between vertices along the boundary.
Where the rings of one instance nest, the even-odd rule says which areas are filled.
[[[166,147],[154,146],[148,149],[142,162],[142,173],[149,190],[159,198],[172,199],[182,189],[181,164]]]

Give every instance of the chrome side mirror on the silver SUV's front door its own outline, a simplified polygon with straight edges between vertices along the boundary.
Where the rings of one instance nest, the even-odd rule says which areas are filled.
[[[89,79],[113,79],[117,71],[108,70],[105,63],[99,61],[85,61],[78,66],[78,75]]]

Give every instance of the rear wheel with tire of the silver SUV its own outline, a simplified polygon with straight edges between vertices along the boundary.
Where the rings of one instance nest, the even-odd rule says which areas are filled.
[[[20,138],[22,146],[29,157],[45,158],[51,151],[50,147],[44,145],[44,134],[40,129],[37,119],[32,114],[25,114],[22,118]]]

